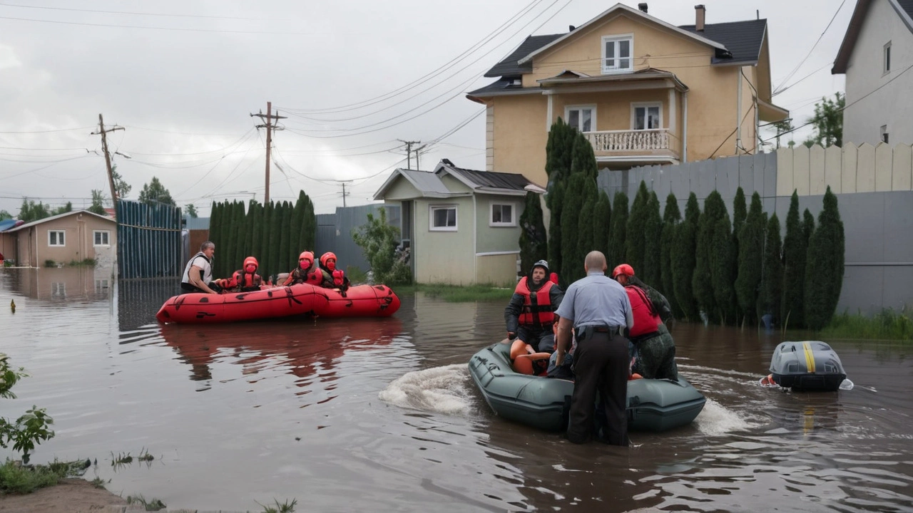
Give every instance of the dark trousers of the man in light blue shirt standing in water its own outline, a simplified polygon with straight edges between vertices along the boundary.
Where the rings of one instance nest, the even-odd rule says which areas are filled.
[[[584,444],[593,434],[596,394],[605,409],[603,439],[628,445],[627,437],[627,339],[617,333],[593,332],[577,340],[568,440]]]

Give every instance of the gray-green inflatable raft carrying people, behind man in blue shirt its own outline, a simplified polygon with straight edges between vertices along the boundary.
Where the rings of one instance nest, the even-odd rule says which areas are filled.
[[[496,414],[547,431],[567,427],[573,382],[519,374],[510,367],[510,345],[496,343],[469,360],[469,374]],[[666,431],[690,424],[706,399],[688,382],[635,380],[627,389],[628,429]]]

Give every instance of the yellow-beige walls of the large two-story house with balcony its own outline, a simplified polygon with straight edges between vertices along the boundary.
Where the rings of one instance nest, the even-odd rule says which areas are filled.
[[[522,78],[524,88],[538,88],[537,80],[554,77],[566,70],[602,76],[602,37],[633,34],[635,69],[650,67],[675,73],[688,88],[687,161],[737,154],[735,129],[738,126],[741,126],[741,145],[750,152],[755,151],[752,86],[759,79],[769,80],[766,61],[757,67],[744,67],[747,79],[742,78],[738,66],[710,66],[714,54],[712,47],[626,14],[578,30],[579,33],[533,58],[532,72]],[[768,58],[766,38],[761,58]],[[762,90],[767,89],[769,87]],[[545,95],[519,94],[485,99],[489,107],[487,167],[493,171],[522,173],[530,181],[544,186],[547,184],[545,146],[548,130],[551,122],[559,116],[564,117],[565,106],[596,105],[598,131],[630,130],[633,102],[661,101],[666,128],[671,126],[668,96],[668,89],[556,93],[552,95],[551,118]],[[676,92],[674,96],[676,130],[670,145],[683,157],[683,94]]]

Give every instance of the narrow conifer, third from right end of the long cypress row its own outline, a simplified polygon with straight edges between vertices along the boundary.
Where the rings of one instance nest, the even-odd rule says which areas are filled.
[[[792,192],[790,210],[786,215],[786,236],[783,239],[783,302],[780,319],[783,326],[805,326],[805,252],[807,239],[799,218],[799,194]]]

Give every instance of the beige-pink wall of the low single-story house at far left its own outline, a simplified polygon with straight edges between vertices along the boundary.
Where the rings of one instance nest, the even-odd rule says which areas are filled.
[[[52,230],[64,232],[64,246],[48,246],[48,232]],[[108,232],[109,245],[94,246],[96,230]],[[94,258],[100,266],[110,267],[117,253],[117,223],[91,214],[73,213],[11,235],[16,236],[16,262],[23,266],[44,267],[47,260],[68,264]]]

